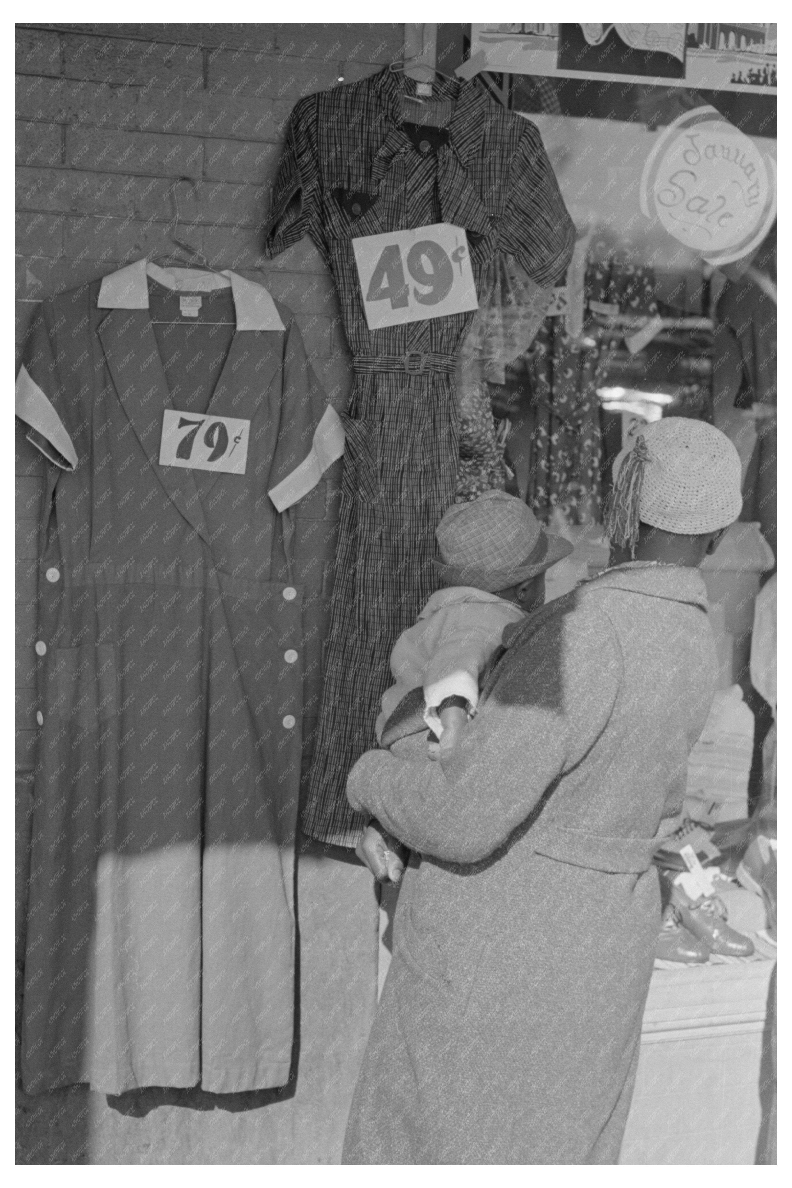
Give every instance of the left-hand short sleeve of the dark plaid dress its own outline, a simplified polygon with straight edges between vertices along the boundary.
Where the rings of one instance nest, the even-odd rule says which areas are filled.
[[[310,235],[322,248],[319,160],[316,144],[316,96],[302,99],[292,110],[286,143],[272,190],[264,247],[270,258]]]

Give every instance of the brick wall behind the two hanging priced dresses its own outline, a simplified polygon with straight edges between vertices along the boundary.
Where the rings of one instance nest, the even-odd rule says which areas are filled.
[[[166,249],[176,183],[179,238],[217,267],[264,273],[343,406],[347,343],[330,276],[308,240],[266,261],[261,225],[294,102],[374,72],[403,48],[400,24],[18,25],[17,366],[38,302]],[[19,429],[15,456],[17,770],[26,772],[44,466]]]

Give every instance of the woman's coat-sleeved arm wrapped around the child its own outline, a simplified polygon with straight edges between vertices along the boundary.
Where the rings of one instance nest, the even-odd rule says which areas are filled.
[[[620,682],[621,653],[607,617],[559,615],[507,652],[452,751],[431,762],[423,737],[403,740],[394,753],[369,751],[349,775],[349,802],[411,849],[481,861],[593,746]]]

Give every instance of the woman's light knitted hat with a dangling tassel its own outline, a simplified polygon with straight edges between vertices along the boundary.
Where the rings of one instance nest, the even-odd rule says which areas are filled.
[[[740,455],[720,429],[688,417],[654,421],[616,455],[606,533],[634,555],[641,520],[680,536],[728,527],[742,510],[741,480]]]

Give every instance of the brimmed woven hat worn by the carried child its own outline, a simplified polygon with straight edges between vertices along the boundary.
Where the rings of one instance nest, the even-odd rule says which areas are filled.
[[[490,593],[537,577],[572,551],[569,541],[544,531],[527,504],[503,491],[454,504],[435,536],[443,583]]]

